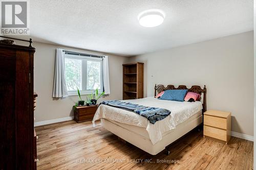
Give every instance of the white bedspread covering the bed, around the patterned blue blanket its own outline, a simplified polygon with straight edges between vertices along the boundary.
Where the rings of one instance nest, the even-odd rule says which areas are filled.
[[[176,102],[159,100],[154,97],[148,97],[143,99],[125,100],[142,106],[159,107],[168,109],[171,113],[169,116],[162,120],[157,121],[154,125],[151,124],[147,118],[123,109],[111,107],[108,105],[100,105],[97,109],[94,118],[93,126],[95,127],[95,120],[100,118],[115,120],[123,124],[134,125],[138,127],[146,128],[148,136],[153,144],[162,139],[162,134],[166,131],[175,129],[177,125],[187,120],[190,116],[193,116],[200,110],[202,110],[202,103],[197,102]]]

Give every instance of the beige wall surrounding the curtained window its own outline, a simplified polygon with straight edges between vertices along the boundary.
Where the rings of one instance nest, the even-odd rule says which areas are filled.
[[[56,48],[89,54],[108,55],[111,94],[105,96],[104,100],[122,99],[122,64],[127,60],[126,57],[40,42],[33,42],[33,46],[36,48],[34,55],[34,90],[38,94],[35,122],[72,116],[72,106],[78,100],[78,96],[69,96],[65,99],[52,98]],[[82,98],[86,99],[86,96]],[[102,98],[99,99],[99,102],[101,100]]]

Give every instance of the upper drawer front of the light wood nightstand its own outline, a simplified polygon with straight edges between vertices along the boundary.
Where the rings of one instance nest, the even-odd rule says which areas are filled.
[[[204,125],[227,129],[227,119],[222,117],[204,115]]]

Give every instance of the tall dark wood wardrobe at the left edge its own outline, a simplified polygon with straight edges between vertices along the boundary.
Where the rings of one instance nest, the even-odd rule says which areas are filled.
[[[0,40],[0,169],[36,169],[35,48],[28,42]]]

